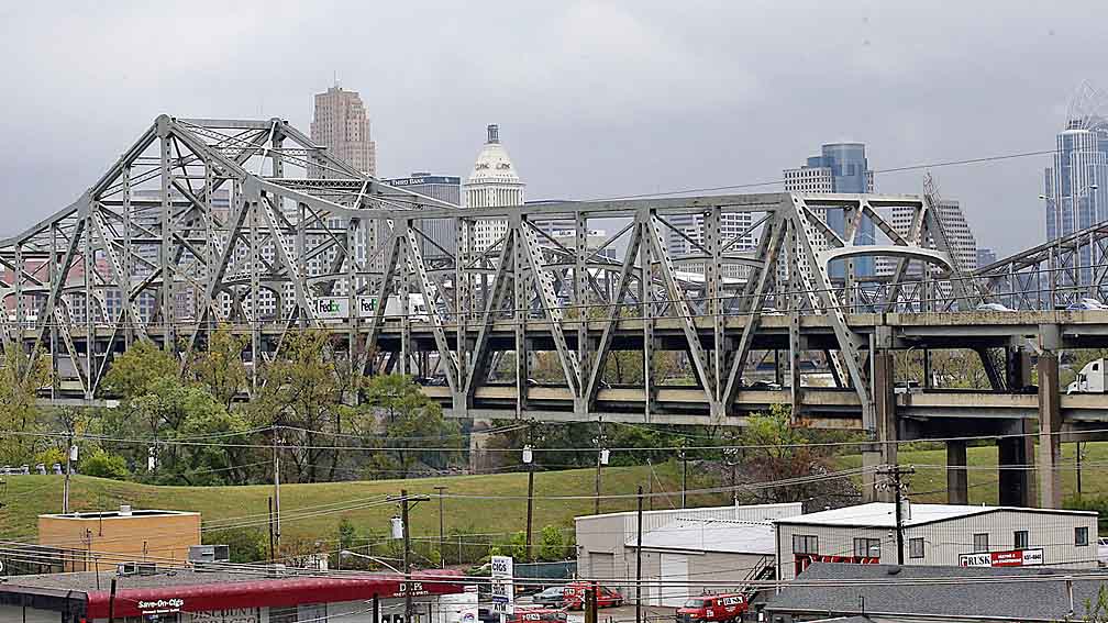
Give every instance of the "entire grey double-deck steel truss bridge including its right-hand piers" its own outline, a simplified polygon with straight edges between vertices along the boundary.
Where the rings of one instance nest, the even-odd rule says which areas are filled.
[[[1102,298],[1105,266],[1081,258],[1104,256],[1108,227],[971,274],[936,205],[927,187],[459,210],[351,168],[284,120],[163,115],[73,204],[0,241],[0,337],[49,354],[52,398],[85,401],[135,340],[187,364],[223,327],[247,338],[256,372],[290,331],[320,328],[332,356],[414,375],[459,418],[741,426],[784,402],[809,426],[869,431],[870,463],[894,462],[897,439],[1023,435],[998,441],[1001,501],[1030,500],[1015,466],[1037,451],[1053,474],[1039,500],[1057,505],[1059,441],[1108,421],[1099,397],[1058,391],[1058,353],[1108,346],[1108,313],[1065,310]],[[885,208],[911,214],[906,233]],[[863,217],[879,244],[860,244]],[[597,242],[599,222],[618,225]],[[490,224],[503,235],[476,248]],[[889,269],[860,275],[861,258]],[[977,310],[997,302],[1014,310]],[[900,353],[944,348],[975,351],[992,390],[931,387],[930,371],[922,390],[895,390]],[[753,380],[767,354],[780,384]],[[613,378],[617,358],[636,380]],[[809,382],[813,360],[828,387]],[[964,501],[965,471],[952,473]]]

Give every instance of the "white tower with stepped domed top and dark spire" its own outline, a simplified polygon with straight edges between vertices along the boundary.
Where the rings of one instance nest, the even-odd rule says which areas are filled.
[[[489,139],[482,145],[473,171],[464,184],[465,207],[502,207],[523,205],[523,190],[515,165],[500,142],[500,127],[489,126]],[[507,232],[507,221],[482,219],[473,228],[473,251],[484,251]]]

